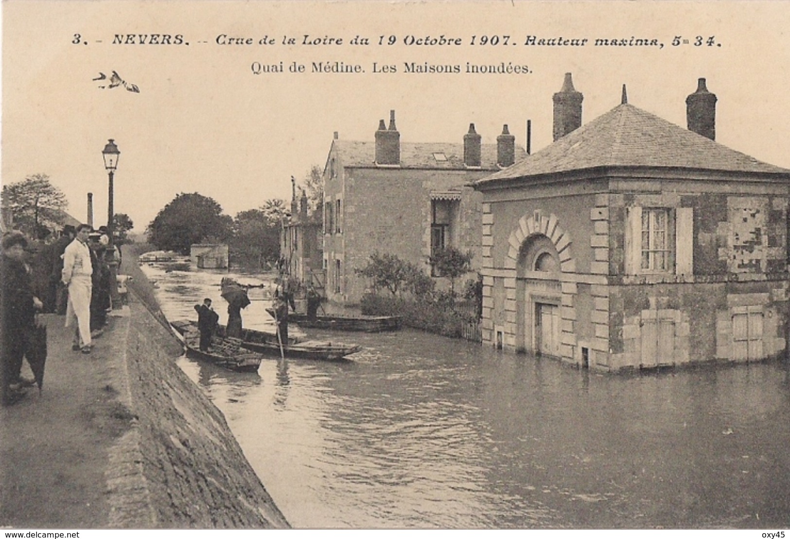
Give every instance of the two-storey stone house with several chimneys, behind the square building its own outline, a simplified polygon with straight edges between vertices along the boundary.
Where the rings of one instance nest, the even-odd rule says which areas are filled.
[[[481,195],[469,184],[524,156],[507,126],[496,144],[482,144],[474,124],[462,143],[401,143],[394,111],[374,141],[344,141],[336,133],[324,170],[329,300],[359,303],[367,283],[354,270],[376,251],[430,273],[431,253],[452,246],[472,251],[479,269]]]

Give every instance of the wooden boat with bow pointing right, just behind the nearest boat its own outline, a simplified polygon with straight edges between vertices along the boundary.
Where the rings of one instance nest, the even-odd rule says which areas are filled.
[[[198,330],[196,322],[177,323],[187,323],[194,327],[194,331]],[[216,333],[220,338],[230,338],[224,337],[225,326],[218,326]],[[241,346],[243,349],[264,356],[280,357],[280,343],[277,341],[277,336],[267,331],[242,330]],[[345,356],[350,356],[361,349],[359,345],[328,341],[298,341],[293,337],[288,337],[288,343],[283,343],[284,356],[292,360],[342,360]]]

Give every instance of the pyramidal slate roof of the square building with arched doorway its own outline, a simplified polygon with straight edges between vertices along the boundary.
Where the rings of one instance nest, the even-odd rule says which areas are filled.
[[[480,179],[476,184],[599,167],[790,174],[786,168],[736,152],[631,104],[620,104],[525,160]]]

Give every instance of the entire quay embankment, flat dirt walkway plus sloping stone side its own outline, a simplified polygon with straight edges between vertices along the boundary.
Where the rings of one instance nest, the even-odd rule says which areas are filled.
[[[73,352],[73,328],[45,315],[43,392],[0,408],[0,526],[289,527],[222,413],[176,365],[181,346],[124,258],[137,293],[92,353]]]

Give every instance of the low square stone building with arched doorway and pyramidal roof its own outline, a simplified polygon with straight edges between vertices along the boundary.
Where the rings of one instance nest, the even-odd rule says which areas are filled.
[[[699,80],[688,129],[627,103],[581,126],[566,75],[555,141],[476,182],[483,341],[617,371],[780,356],[790,170],[714,141]]]

